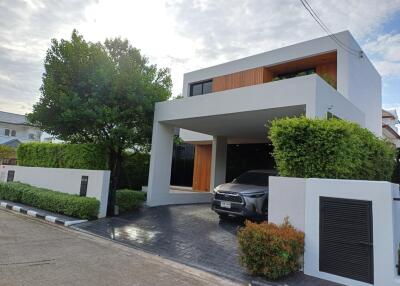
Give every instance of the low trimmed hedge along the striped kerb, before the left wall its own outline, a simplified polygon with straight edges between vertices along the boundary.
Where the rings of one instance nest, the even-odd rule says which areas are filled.
[[[100,202],[95,198],[60,193],[19,182],[0,182],[0,199],[81,219],[96,219],[100,208]]]

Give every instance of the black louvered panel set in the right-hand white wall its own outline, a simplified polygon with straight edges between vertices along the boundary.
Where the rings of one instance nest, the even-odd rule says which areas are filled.
[[[374,282],[372,203],[320,197],[319,270]]]

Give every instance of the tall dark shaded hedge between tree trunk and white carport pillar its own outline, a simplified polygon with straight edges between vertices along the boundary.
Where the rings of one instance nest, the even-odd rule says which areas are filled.
[[[118,188],[140,190],[147,186],[149,178],[150,154],[126,152],[122,162]]]

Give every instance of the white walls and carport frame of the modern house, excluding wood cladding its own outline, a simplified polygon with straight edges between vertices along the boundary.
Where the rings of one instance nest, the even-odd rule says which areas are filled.
[[[358,47],[349,32],[336,35]],[[317,74],[189,96],[190,84],[257,67],[337,53],[337,89]],[[227,143],[266,142],[270,120],[330,112],[381,135],[381,78],[368,58],[349,55],[323,37],[184,75],[182,99],[156,104],[148,184],[150,206],[210,201],[210,193],[170,190],[173,130],[186,142],[213,144],[210,190],[224,182]]]

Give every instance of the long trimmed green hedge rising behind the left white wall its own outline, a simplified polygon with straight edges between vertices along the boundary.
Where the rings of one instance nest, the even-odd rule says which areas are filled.
[[[24,143],[17,149],[18,165],[28,167],[107,170],[107,153],[92,144]]]

